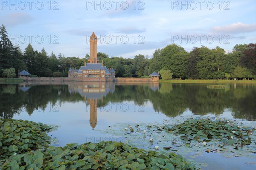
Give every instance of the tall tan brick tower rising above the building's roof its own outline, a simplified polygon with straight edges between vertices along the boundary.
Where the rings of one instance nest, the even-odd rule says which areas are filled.
[[[99,63],[97,60],[97,41],[97,36],[93,32],[90,36],[90,59],[88,63]]]

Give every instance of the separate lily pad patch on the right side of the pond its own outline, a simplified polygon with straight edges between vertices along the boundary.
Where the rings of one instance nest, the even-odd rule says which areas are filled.
[[[188,141],[195,139],[197,141],[208,141],[209,139],[229,140],[228,144],[250,144],[250,133],[255,130],[250,127],[239,127],[232,121],[211,120],[211,119],[189,119],[184,123],[175,125],[168,129],[170,133],[179,133],[185,135]],[[231,137],[233,136],[233,137]],[[234,139],[237,138],[237,139]],[[232,142],[232,143],[231,143]]]

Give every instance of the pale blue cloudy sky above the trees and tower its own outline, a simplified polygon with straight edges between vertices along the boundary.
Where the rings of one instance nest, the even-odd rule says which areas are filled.
[[[232,52],[256,43],[255,0],[0,0],[0,24],[24,51],[30,43],[48,54],[83,58],[89,37],[97,52],[134,58],[175,43]]]

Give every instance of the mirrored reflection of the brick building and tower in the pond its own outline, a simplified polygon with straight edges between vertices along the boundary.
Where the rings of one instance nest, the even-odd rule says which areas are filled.
[[[90,126],[97,125],[97,102],[103,102],[103,96],[115,91],[114,82],[76,82],[68,85],[69,92],[79,93],[84,101],[90,105]]]

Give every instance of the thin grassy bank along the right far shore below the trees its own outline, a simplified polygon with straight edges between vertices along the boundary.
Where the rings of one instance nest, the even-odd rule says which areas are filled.
[[[256,80],[225,80],[225,79],[212,79],[212,80],[201,80],[201,79],[171,79],[171,80],[159,80],[159,82],[170,82],[170,83],[202,83],[202,84],[256,84]]]

